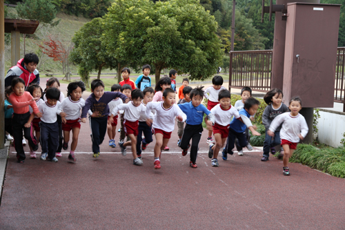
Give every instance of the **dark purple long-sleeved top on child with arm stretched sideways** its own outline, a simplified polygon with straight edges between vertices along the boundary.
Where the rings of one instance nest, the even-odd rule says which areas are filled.
[[[109,107],[108,103],[115,99],[116,97],[120,97],[124,102],[127,99],[126,95],[119,93],[119,92],[104,92],[103,96],[97,99],[93,93],[88,96],[86,99],[85,106],[81,110],[81,118],[86,117],[88,110],[90,109],[92,112],[98,111],[98,117],[108,117],[109,115]]]

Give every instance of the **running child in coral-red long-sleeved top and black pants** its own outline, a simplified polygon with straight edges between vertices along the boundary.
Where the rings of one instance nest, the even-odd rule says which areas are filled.
[[[13,119],[12,119],[12,133],[14,137],[14,148],[17,151],[18,163],[23,163],[26,159],[26,155],[23,149],[23,131],[24,137],[29,141],[32,151],[37,151],[39,148],[37,139],[32,135],[31,122],[28,122],[30,118],[29,105],[32,106],[34,114],[37,117],[41,117],[42,114],[36,105],[36,100],[25,91],[25,82],[20,77],[16,77],[12,80],[12,94],[8,97],[8,101],[13,106]]]

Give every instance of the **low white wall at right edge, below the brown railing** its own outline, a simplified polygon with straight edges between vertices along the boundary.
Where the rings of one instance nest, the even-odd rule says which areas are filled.
[[[333,147],[339,147],[345,132],[345,113],[335,111],[319,110],[320,118],[317,128],[319,128],[319,142]]]

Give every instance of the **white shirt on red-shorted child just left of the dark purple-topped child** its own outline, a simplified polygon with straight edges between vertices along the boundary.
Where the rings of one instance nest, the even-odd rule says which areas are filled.
[[[73,101],[70,97],[63,99],[57,113],[66,113],[66,119],[79,119],[81,115],[81,108],[85,106],[85,100],[80,98],[77,102]]]

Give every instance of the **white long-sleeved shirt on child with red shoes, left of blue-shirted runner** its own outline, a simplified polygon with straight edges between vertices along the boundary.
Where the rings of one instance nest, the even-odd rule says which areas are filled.
[[[148,102],[146,105],[146,117],[150,117],[151,110],[155,110],[156,114],[153,117],[152,128],[159,128],[162,131],[172,132],[175,128],[175,117],[181,115],[182,122],[186,121],[186,114],[181,111],[177,104],[172,104],[170,108],[163,107],[164,102]]]

